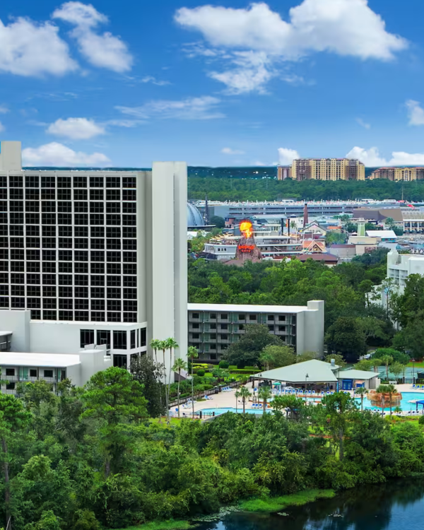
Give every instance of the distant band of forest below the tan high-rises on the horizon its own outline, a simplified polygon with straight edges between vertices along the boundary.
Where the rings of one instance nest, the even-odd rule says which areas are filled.
[[[389,180],[355,180],[336,182],[286,179],[207,178],[189,176],[189,199],[211,201],[278,201],[298,199],[307,201],[351,199],[402,199],[423,201],[424,182],[391,182]]]

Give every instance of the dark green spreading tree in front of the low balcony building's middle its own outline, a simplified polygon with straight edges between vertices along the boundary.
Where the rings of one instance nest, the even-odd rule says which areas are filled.
[[[261,352],[269,345],[284,346],[284,343],[281,338],[269,333],[268,326],[248,324],[240,340],[232,343],[225,351],[225,360],[228,360],[230,365],[237,365],[240,368],[246,365],[258,366]]]

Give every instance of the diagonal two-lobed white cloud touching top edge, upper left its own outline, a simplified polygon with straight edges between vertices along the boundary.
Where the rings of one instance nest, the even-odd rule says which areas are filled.
[[[59,18],[76,28],[71,36],[78,42],[81,54],[94,66],[116,72],[131,70],[133,57],[120,37],[112,33],[95,33],[100,23],[107,23],[107,16],[99,13],[93,6],[71,1],[54,11],[52,18]]]

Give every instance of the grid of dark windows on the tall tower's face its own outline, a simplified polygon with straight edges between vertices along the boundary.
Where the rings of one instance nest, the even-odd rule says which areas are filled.
[[[0,308],[30,309],[34,319],[137,322],[136,177],[0,175],[0,199],[0,283],[8,286]],[[91,297],[93,276],[104,278],[104,307]],[[86,299],[76,298],[81,284]],[[62,300],[66,288],[75,303]]]

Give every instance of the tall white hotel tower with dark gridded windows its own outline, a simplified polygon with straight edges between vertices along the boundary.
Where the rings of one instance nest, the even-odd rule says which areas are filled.
[[[22,170],[1,142],[0,334],[28,353],[105,344],[117,366],[151,338],[184,353],[186,232],[185,163]]]

